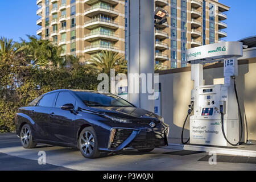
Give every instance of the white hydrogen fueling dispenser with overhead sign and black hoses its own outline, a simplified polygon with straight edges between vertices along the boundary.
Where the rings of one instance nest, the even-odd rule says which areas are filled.
[[[191,63],[191,105],[189,139],[191,144],[236,146],[242,139],[242,116],[236,90],[237,57],[243,55],[241,42],[222,42],[187,50]],[[203,65],[224,61],[224,84],[204,85]],[[193,110],[193,114],[192,114]],[[181,134],[183,141],[183,130]]]

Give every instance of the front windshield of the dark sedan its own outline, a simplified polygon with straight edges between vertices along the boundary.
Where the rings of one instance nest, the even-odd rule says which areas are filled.
[[[113,94],[100,94],[92,92],[75,92],[86,106],[89,107],[134,107],[129,102]]]

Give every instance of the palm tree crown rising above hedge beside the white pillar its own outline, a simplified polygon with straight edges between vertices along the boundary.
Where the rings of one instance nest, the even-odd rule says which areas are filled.
[[[110,75],[110,69],[115,69],[115,73],[127,73],[127,61],[123,56],[112,51],[101,51],[93,55],[86,67],[108,75]]]

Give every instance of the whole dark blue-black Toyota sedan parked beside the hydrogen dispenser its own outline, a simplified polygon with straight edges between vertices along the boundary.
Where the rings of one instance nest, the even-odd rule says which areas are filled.
[[[167,146],[169,126],[163,117],[139,109],[114,94],[60,89],[39,96],[15,115],[24,148],[37,143],[79,148],[85,158]]]

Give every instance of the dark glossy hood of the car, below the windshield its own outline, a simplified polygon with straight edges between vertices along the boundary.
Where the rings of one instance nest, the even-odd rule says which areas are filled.
[[[90,110],[127,119],[160,120],[159,115],[137,107],[90,107]]]

